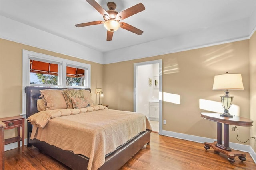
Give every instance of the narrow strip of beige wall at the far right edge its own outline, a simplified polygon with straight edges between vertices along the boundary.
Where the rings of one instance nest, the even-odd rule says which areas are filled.
[[[250,38],[250,118],[254,121],[251,136],[256,135],[256,32]],[[256,144],[252,139],[251,147],[256,152]]]

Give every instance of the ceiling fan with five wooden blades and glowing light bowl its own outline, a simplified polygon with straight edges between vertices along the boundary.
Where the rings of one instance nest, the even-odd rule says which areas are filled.
[[[128,31],[131,31],[132,33],[136,33],[138,35],[142,35],[143,31],[133,27],[132,25],[129,25],[125,22],[119,22],[121,19],[128,18],[134,14],[137,14],[138,12],[141,12],[145,10],[145,6],[142,3],[139,3],[137,5],[134,5],[122,12],[115,11],[116,4],[114,2],[108,2],[108,11],[104,10],[100,4],[98,4],[95,0],[86,0],[92,7],[94,7],[100,14],[102,14],[105,21],[92,21],[92,22],[86,22],[86,23],[80,23],[76,24],[76,27],[85,27],[90,25],[98,25],[98,24],[104,24],[104,27],[108,30],[107,31],[107,41],[111,41],[113,37],[114,31],[118,30],[119,27],[122,29],[126,29]]]

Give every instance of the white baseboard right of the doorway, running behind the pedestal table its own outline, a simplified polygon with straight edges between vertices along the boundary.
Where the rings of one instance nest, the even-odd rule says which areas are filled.
[[[199,142],[199,143],[217,141],[216,139],[199,137],[199,136],[194,136],[194,135],[187,135],[184,133],[176,133],[176,132],[165,131],[165,130],[162,130],[162,135],[169,136],[169,137],[175,137],[178,139],[184,139],[184,140],[188,140],[188,141],[193,141],[193,142]],[[233,143],[233,142],[230,142],[229,145],[230,145],[230,148],[232,148],[232,149],[241,150],[243,152],[248,152],[251,155],[252,160],[256,164],[256,153],[254,152],[254,150],[252,149],[251,146],[243,145],[243,144],[239,144],[239,143]]]

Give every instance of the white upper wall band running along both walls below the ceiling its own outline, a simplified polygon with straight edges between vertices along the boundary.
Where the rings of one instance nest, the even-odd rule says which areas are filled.
[[[106,53],[1,15],[0,38],[100,64],[109,64],[249,39],[256,27],[255,18],[256,9],[252,12],[250,18],[231,21],[214,27],[201,28],[182,35],[166,37]]]

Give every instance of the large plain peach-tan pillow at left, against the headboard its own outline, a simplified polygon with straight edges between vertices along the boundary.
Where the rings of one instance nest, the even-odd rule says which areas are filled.
[[[68,107],[62,90],[44,89],[40,90],[40,93],[46,102],[47,110],[66,109]]]

